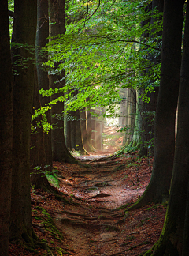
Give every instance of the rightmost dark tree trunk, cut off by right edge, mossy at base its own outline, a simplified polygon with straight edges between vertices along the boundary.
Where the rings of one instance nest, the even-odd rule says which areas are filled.
[[[176,1],[172,5],[169,2],[169,9],[176,8]],[[166,3],[165,1],[165,7]],[[183,1],[184,2],[184,1]],[[182,3],[183,3],[182,2]],[[168,7],[168,6],[167,6]],[[180,3],[180,9],[183,7]],[[165,9],[168,11],[169,9]],[[178,5],[177,5],[178,9]],[[181,10],[180,10],[181,11]],[[165,16],[167,12],[165,12]],[[172,20],[175,16],[172,16]],[[166,19],[165,19],[166,22]],[[169,23],[170,25],[170,23]],[[174,27],[173,27],[174,28]],[[180,28],[182,32],[182,28]],[[174,52],[172,52],[173,55]],[[158,243],[155,244],[153,253],[150,251],[146,255],[154,256],[186,256],[188,255],[188,229],[187,235],[183,237],[184,219],[187,206],[187,189],[188,189],[188,168],[189,168],[189,5],[187,2],[187,18],[185,24],[184,41],[183,41],[183,58],[180,71],[180,93],[178,108],[178,130],[176,137],[176,152],[174,157],[174,167],[172,171],[172,183],[169,193],[169,204],[165,216],[164,228]],[[185,224],[187,222],[185,221]],[[187,228],[187,226],[186,226]],[[187,244],[184,245],[183,241]],[[184,246],[187,246],[184,247]]]

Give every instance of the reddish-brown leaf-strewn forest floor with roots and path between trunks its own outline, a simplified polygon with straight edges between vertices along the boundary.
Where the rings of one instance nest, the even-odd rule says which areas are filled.
[[[98,152],[79,160],[78,166],[54,163],[63,201],[31,190],[35,233],[46,240],[54,256],[142,255],[161,235],[166,204],[126,209],[143,194],[153,160],[139,159],[137,152],[117,157]],[[50,254],[10,244],[9,255]]]

